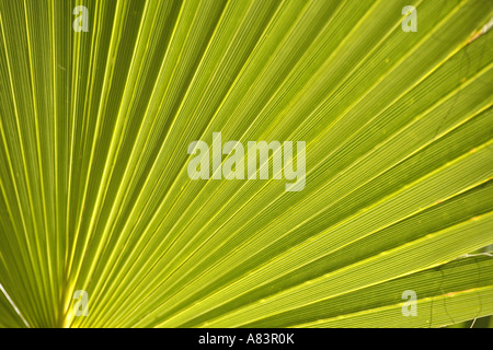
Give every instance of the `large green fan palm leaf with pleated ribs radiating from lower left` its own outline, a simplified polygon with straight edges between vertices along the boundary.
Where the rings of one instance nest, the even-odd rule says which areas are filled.
[[[0,326],[492,315],[493,258],[471,255],[493,243],[491,18],[488,0],[0,0]],[[305,141],[305,188],[192,180],[188,144],[218,131]]]

